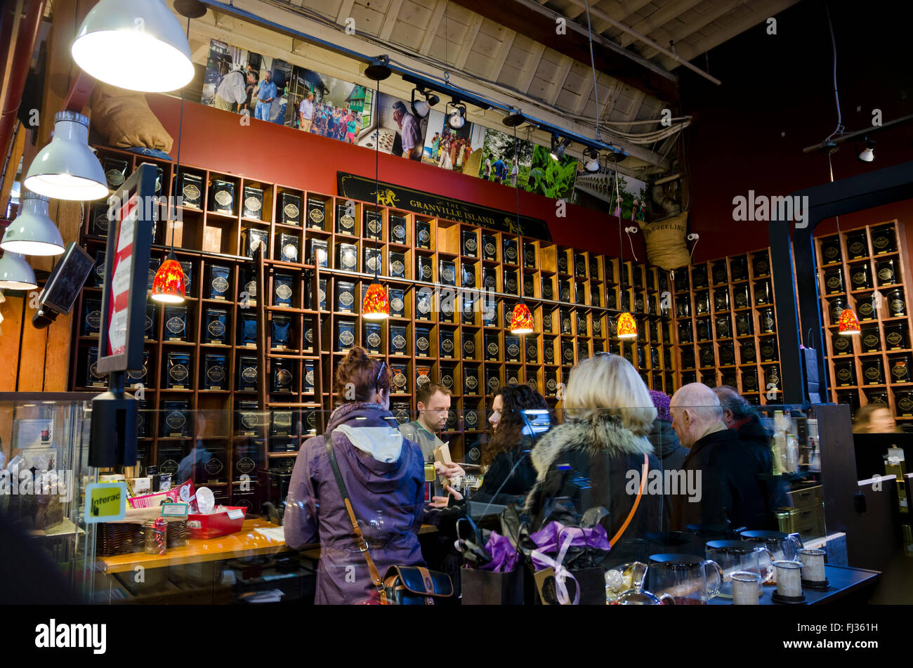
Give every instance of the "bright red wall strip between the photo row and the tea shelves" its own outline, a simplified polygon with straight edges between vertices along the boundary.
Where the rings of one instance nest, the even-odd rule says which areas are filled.
[[[180,100],[163,95],[146,97],[152,111],[174,139],[171,155],[176,158]],[[292,188],[336,194],[336,172],[373,178],[374,160],[374,151],[369,149],[262,120],[251,119],[249,125],[242,125],[237,114],[194,102],[184,103],[182,163]],[[516,193],[512,188],[393,155],[380,154],[380,178],[388,183],[507,212],[517,210]],[[519,193],[519,206],[520,214],[545,220],[551,238],[557,244],[618,255],[618,223],[614,216],[568,204],[567,216],[558,218],[554,200],[525,192]],[[643,259],[643,242],[639,235],[635,237],[635,248],[638,257]],[[629,249],[625,255],[630,257]]]

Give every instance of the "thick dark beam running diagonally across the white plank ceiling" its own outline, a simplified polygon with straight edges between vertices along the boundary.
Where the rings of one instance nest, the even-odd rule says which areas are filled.
[[[573,21],[567,23],[567,34],[555,32],[556,12],[538,5],[535,0],[453,0],[457,5],[476,12],[486,18],[516,30],[540,44],[564,54],[590,62],[590,45],[586,28]],[[580,0],[582,5],[583,0]],[[594,11],[594,10],[592,10]],[[593,56],[596,68],[610,77],[618,78],[629,86],[644,89],[651,95],[666,101],[677,101],[678,89],[675,78],[668,71],[659,68],[645,58],[619,47],[604,37],[593,35]]]

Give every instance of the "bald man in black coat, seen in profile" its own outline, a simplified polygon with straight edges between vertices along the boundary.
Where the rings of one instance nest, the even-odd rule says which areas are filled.
[[[764,528],[764,498],[757,475],[761,465],[723,422],[717,395],[693,382],[679,389],[669,407],[672,428],[688,448],[682,470],[698,478],[702,494],[695,502],[684,495],[672,499],[672,527],[689,524]],[[699,472],[699,474],[698,474]]]

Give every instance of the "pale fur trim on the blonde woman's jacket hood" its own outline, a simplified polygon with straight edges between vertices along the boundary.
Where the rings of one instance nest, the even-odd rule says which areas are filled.
[[[532,449],[530,458],[537,480],[544,479],[561,453],[582,450],[591,454],[653,454],[646,436],[637,436],[612,417],[600,415],[591,420],[569,420],[544,434]]]

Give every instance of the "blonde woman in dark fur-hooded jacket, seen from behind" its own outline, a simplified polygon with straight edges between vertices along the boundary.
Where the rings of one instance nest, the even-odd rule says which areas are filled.
[[[641,491],[646,468],[660,471],[647,439],[656,408],[631,362],[598,353],[571,371],[564,390],[565,422],[531,453],[536,485],[526,510],[536,530],[551,520],[579,525],[591,508],[602,516],[613,548],[605,566],[644,558],[646,533],[662,530],[661,490]],[[599,510],[602,508],[603,510]]]

